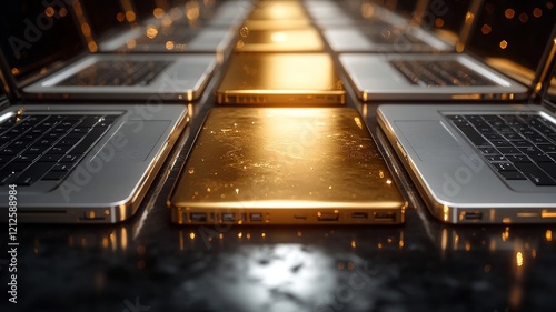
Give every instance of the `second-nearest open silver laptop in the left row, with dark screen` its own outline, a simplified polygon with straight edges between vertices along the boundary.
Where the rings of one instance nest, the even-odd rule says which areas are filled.
[[[214,54],[90,53],[97,46],[81,39],[72,10],[48,3],[18,0],[0,12],[1,51],[24,97],[192,101],[217,66]]]

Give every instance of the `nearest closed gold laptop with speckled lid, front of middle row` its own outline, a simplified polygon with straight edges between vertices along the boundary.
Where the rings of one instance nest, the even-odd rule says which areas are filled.
[[[212,109],[168,204],[178,224],[324,225],[399,224],[407,205],[347,108]]]

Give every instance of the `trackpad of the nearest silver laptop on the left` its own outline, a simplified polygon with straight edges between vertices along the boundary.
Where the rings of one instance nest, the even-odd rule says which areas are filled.
[[[112,134],[95,158],[101,157],[103,161],[145,161],[169,124],[167,120],[129,120]]]

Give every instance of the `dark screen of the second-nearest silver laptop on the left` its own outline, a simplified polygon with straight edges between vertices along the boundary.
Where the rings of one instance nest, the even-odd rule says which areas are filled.
[[[0,48],[21,82],[85,50],[71,9],[62,0],[10,0],[0,10]]]

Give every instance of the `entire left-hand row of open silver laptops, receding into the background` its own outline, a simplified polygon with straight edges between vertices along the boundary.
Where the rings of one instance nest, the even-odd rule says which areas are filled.
[[[0,189],[17,191],[20,222],[130,218],[188,123],[187,103],[199,97],[217,67],[216,49],[91,53],[103,47],[102,27],[139,22],[133,8],[103,2],[21,0],[0,12]],[[235,10],[222,11],[234,13],[228,21],[215,13],[215,28],[229,31],[245,3],[219,4]],[[159,29],[165,23],[163,14],[143,17]],[[92,24],[97,19],[102,22]],[[107,33],[115,30],[112,24]],[[54,100],[44,101],[49,98]]]

